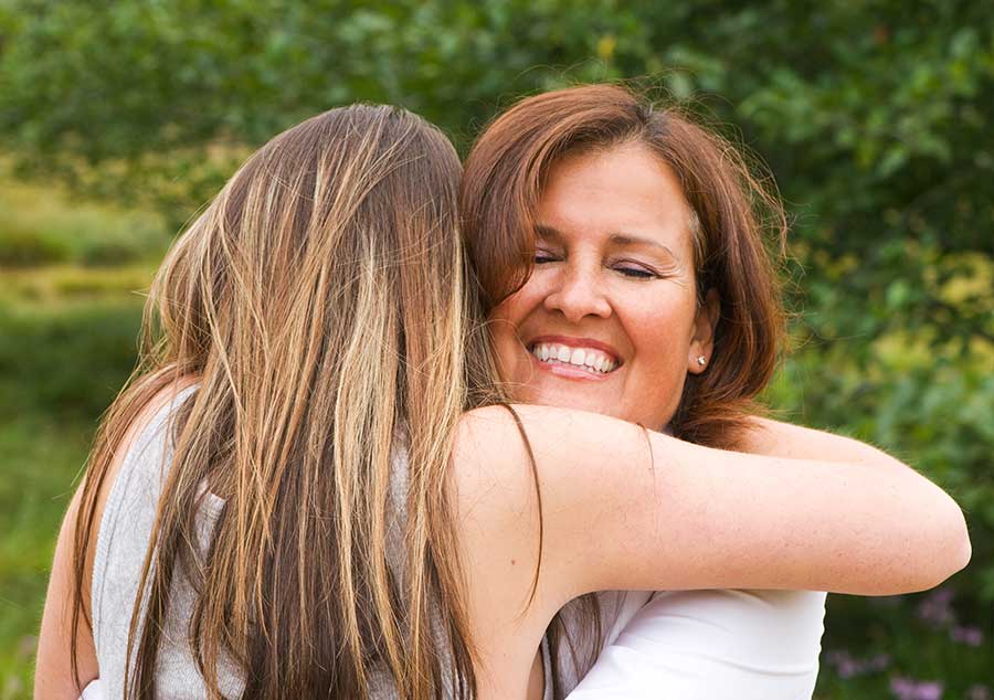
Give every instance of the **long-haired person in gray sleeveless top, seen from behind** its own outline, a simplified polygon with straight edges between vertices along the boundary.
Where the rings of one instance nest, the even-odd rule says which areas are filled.
[[[963,565],[959,508],[899,465],[834,509],[858,531],[784,538],[859,470],[579,411],[466,412],[501,397],[469,322],[458,177],[416,117],[332,109],[181,236],[149,298],[159,342],[60,534],[36,697],[99,676],[114,698],[551,698],[542,639],[583,593],[890,593]],[[874,556],[832,562],[859,543]],[[908,565],[909,544],[944,553]]]

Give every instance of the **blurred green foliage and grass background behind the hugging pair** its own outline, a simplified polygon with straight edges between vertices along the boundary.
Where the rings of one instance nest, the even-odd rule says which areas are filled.
[[[775,176],[793,221],[796,318],[774,406],[901,455],[967,512],[973,563],[948,586],[955,624],[985,630],[983,644],[919,619],[914,596],[835,598],[825,647],[892,659],[849,679],[823,664],[819,697],[886,697],[893,676],[939,679],[948,698],[985,692],[994,13],[984,3],[2,0],[0,162],[7,181],[52,194],[0,190],[0,678],[13,679],[0,698],[30,687],[28,635],[68,479],[133,362],[140,298],[127,290],[147,284],[169,234],[236,161],[353,100],[404,105],[465,151],[522,94],[615,78],[687,105]],[[76,212],[63,187],[156,215]]]

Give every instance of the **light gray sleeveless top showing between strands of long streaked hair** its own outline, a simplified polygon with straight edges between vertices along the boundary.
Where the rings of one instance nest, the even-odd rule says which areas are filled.
[[[178,392],[145,425],[140,435],[131,443],[110,489],[99,523],[91,600],[99,679],[87,688],[87,697],[108,700],[124,697],[125,668],[129,664],[127,644],[131,612],[138,597],[138,581],[151,540],[159,496],[172,460],[173,445],[168,439],[171,434],[169,417],[195,390],[197,386],[193,385]],[[402,450],[399,450],[393,469],[395,502],[404,502],[401,495],[406,490],[406,460]],[[224,501],[218,496],[204,494],[202,507],[195,515],[199,544],[204,550],[223,505]],[[388,545],[391,551],[398,552],[400,559],[401,529],[399,522],[392,524]],[[193,604],[192,587],[182,575],[175,576],[170,588],[169,617],[163,628],[156,669],[157,697],[162,700],[188,700],[207,696],[204,680],[197,670],[188,641]],[[544,643],[542,658],[546,668],[543,700],[552,700],[551,665]],[[134,655],[130,661],[134,668]],[[569,686],[575,683],[575,679],[570,681]],[[230,660],[222,659],[219,682],[226,698],[242,696],[244,678]],[[373,677],[370,698],[398,698],[396,689],[385,672]]]

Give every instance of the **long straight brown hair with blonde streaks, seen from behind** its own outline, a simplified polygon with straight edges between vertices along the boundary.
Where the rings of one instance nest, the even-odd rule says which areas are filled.
[[[112,456],[154,395],[195,378],[172,420],[128,698],[155,697],[177,576],[197,592],[190,643],[211,698],[228,660],[245,698],[367,697],[383,675],[404,698],[474,692],[444,485],[454,427],[479,403],[467,386],[485,392],[493,364],[466,291],[459,174],[450,141],[414,115],[331,109],[253,155],[169,252],[141,361],[97,433],[75,533],[77,629]],[[204,484],[225,506],[200,552]]]

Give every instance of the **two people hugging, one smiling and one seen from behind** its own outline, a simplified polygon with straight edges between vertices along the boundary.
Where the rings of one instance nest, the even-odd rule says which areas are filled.
[[[177,240],[60,533],[38,698],[810,698],[825,592],[963,515],[766,417],[785,218],[614,85],[276,136]],[[914,517],[909,517],[914,513]]]

